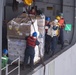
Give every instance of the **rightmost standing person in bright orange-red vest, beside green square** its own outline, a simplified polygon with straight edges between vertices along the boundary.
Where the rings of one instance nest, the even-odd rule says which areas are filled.
[[[61,44],[61,49],[63,49],[63,46],[64,46],[64,35],[63,35],[63,29],[65,27],[65,20],[63,18],[63,14],[61,14],[60,16],[60,20],[59,20],[59,27],[60,27],[60,44]]]

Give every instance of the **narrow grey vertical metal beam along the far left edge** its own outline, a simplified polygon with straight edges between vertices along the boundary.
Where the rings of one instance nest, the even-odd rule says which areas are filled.
[[[2,56],[3,1],[4,1],[4,0],[0,0],[0,75],[1,75],[1,56]]]

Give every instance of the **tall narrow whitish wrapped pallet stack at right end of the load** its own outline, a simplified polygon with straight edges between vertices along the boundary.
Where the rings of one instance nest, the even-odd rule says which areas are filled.
[[[41,53],[41,56],[43,57],[44,56],[44,45],[45,45],[45,29],[44,29],[44,26],[45,26],[45,16],[44,15],[41,15],[41,16],[37,16],[36,17],[37,19],[37,24],[38,24],[38,30],[39,30],[39,37],[38,37],[38,40],[40,41],[40,53]]]

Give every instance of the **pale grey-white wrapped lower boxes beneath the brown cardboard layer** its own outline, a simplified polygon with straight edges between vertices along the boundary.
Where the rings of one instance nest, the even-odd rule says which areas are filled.
[[[8,39],[8,55],[9,58],[14,60],[17,57],[20,56],[21,62],[24,60],[24,53],[25,53],[25,48],[26,48],[26,41],[22,39]],[[38,46],[35,47],[35,59],[34,62],[39,60],[39,55],[38,55]]]

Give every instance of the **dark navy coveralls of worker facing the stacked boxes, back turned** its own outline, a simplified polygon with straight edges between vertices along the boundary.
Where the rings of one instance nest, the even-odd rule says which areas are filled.
[[[27,40],[27,39],[26,39]],[[36,40],[36,45],[39,45],[38,40]],[[25,50],[25,56],[24,56],[24,64],[28,64],[28,59],[30,57],[30,65],[34,65],[34,56],[35,56],[35,50],[34,47],[29,46],[28,44],[26,45],[26,50]]]

